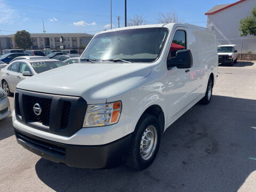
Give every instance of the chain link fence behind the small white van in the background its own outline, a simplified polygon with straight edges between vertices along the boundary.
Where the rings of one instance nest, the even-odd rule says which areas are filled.
[[[218,39],[218,45],[235,44],[238,53],[256,54],[256,38]]]

